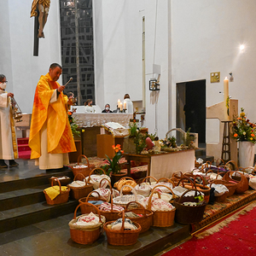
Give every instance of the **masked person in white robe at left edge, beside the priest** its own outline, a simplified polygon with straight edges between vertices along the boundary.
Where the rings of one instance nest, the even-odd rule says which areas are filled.
[[[0,168],[8,167],[4,160],[9,160],[9,167],[19,166],[15,162],[18,148],[10,103],[10,97],[14,97],[14,94],[5,91],[7,83],[6,77],[0,74]]]

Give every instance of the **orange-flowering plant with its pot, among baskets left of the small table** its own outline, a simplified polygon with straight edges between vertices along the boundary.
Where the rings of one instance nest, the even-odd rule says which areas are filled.
[[[105,162],[107,162],[107,164],[105,166],[102,166],[102,169],[106,172],[108,176],[111,177],[111,181],[115,183],[121,177],[124,177],[126,173],[120,172],[121,165],[119,163],[119,160],[123,157],[124,151],[121,149],[121,146],[119,144],[113,145],[112,148],[115,151],[113,159],[110,159],[106,154],[107,159],[105,159]]]

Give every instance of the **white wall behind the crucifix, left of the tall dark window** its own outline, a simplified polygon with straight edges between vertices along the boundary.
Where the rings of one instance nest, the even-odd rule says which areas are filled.
[[[61,64],[59,2],[51,1],[44,27],[45,38],[39,39],[38,56],[33,56],[34,18],[30,18],[32,0],[1,1],[1,10],[2,6],[6,12],[3,12],[4,22],[1,25],[5,26],[1,26],[3,33],[0,33],[0,53],[3,55],[1,72],[8,75],[22,112],[32,113],[38,79],[48,73],[52,62]]]

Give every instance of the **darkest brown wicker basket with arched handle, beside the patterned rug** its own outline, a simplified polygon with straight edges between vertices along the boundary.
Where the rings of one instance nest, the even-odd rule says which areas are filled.
[[[184,196],[189,191],[195,191],[195,196]],[[176,207],[176,215],[175,220],[177,223],[180,224],[194,224],[201,222],[205,209],[207,207],[207,202],[204,201],[201,205],[190,207],[190,206],[184,206],[183,202],[186,201],[194,201],[198,202],[198,199],[195,199],[198,195],[202,195],[201,192],[199,192],[197,189],[188,189],[181,195],[179,198],[177,198],[173,205]]]

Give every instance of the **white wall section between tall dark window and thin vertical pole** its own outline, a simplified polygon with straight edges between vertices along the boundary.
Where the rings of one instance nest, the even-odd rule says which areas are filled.
[[[142,100],[143,3],[94,1],[96,103],[101,108],[108,102],[115,109],[125,93]]]

